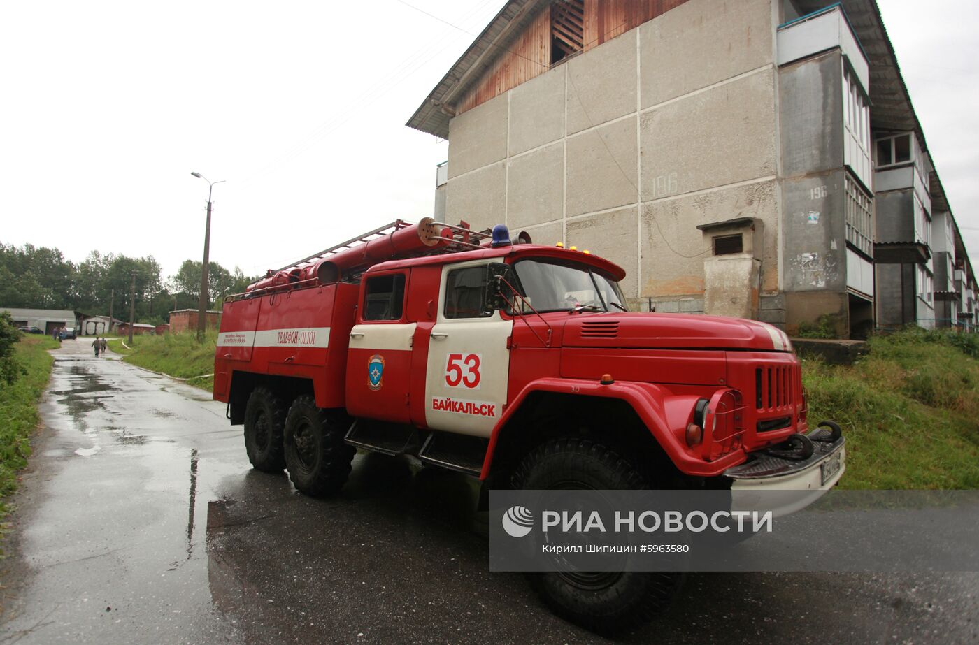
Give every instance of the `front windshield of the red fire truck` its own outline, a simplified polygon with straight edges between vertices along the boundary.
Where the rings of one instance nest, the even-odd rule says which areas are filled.
[[[536,311],[628,311],[619,283],[583,262],[553,258],[514,263],[521,295]]]

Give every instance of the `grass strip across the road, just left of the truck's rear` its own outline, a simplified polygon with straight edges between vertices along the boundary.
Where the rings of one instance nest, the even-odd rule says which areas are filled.
[[[122,360],[125,362],[154,372],[187,379],[214,371],[217,332],[213,330],[208,332],[204,343],[198,343],[197,335],[193,333],[134,336],[131,349],[123,347],[123,341],[124,339],[110,340],[109,348],[123,354]],[[128,341],[125,342],[128,345]],[[187,384],[210,392],[214,379],[212,376],[192,378]]]

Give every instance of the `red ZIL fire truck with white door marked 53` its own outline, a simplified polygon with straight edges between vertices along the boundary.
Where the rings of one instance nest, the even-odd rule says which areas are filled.
[[[224,302],[214,398],[256,469],[338,491],[356,448],[484,487],[825,490],[838,426],[810,432],[800,363],[753,320],[628,310],[622,267],[505,227],[396,221]],[[534,575],[588,626],[647,618],[670,574]]]

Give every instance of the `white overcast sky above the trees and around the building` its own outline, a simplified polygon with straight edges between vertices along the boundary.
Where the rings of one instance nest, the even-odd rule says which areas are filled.
[[[502,0],[4,2],[0,242],[277,268],[433,209],[404,122]],[[979,268],[979,3],[878,0]],[[468,32],[468,33],[467,33]]]

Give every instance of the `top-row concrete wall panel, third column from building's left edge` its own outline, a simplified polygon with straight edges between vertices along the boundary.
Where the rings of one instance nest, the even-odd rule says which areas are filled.
[[[568,134],[635,112],[635,33],[568,62]]]

